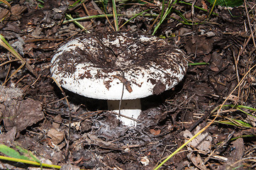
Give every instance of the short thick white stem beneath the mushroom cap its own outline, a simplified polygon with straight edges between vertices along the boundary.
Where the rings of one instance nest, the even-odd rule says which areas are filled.
[[[108,110],[119,113],[119,101],[108,100]],[[121,115],[126,115],[129,118],[138,119],[141,113],[140,99],[123,100],[121,102],[120,113]],[[118,116],[118,119],[123,122],[123,125],[136,126],[137,122],[129,118]]]

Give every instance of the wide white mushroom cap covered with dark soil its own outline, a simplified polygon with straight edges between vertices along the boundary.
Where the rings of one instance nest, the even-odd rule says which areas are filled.
[[[52,77],[89,98],[135,99],[161,94],[187,72],[182,50],[137,33],[91,33],[62,45],[52,57]]]

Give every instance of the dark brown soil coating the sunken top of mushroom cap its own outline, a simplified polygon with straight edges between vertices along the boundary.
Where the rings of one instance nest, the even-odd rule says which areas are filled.
[[[148,40],[142,41],[142,38]],[[184,62],[182,55],[178,55],[175,60],[168,60],[168,54],[177,50],[165,40],[137,33],[92,33],[79,36],[77,40],[84,44],[84,49],[76,47],[60,56],[59,64],[67,74],[75,72],[76,64],[85,62],[101,68],[103,72],[149,67],[150,62],[163,68]]]

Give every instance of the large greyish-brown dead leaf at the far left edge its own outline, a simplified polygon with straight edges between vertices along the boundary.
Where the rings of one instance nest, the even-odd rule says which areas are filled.
[[[0,87],[0,115],[7,131],[16,127],[21,132],[44,118],[40,101],[22,100],[21,96],[18,88]]]

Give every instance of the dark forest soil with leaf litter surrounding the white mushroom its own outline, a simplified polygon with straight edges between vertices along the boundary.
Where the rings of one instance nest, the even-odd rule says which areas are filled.
[[[174,6],[193,24],[180,23],[182,18],[173,11],[156,36],[184,50],[189,63],[205,64],[189,65],[177,86],[143,98],[137,127],[121,125],[107,111],[106,101],[60,89],[51,79],[50,61],[58,47],[88,31],[113,32],[112,17],[108,17],[111,25],[104,17],[79,21],[87,30],[63,23],[65,13],[73,18],[103,14],[101,3],[85,1],[68,8],[73,3],[45,1],[40,7],[39,1],[11,1],[11,13],[0,4],[0,18],[6,16],[0,23],[1,35],[33,68],[29,70],[27,64],[18,69],[21,62],[0,47],[1,144],[21,146],[41,162],[59,166],[154,169],[213,120],[214,108],[225,104],[217,121],[161,169],[255,169],[254,2],[234,8],[216,6],[213,12],[218,16],[184,4]],[[211,10],[205,1],[195,5]],[[120,30],[151,35],[161,6],[156,1],[119,2],[118,13],[125,14],[118,18],[120,26],[131,18],[128,13],[150,8],[152,14],[138,16]],[[109,3],[106,13],[111,10]],[[2,161],[0,169],[28,169],[28,165]]]

